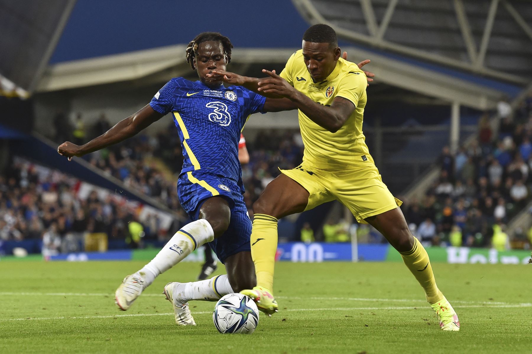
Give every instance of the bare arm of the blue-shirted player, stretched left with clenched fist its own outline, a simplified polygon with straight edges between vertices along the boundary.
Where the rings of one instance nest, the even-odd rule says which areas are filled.
[[[66,141],[59,145],[57,152],[69,161],[74,156],[84,156],[85,154],[106,148],[107,146],[119,143],[136,135],[150,124],[161,119],[164,115],[155,111],[151,106],[146,105],[137,113],[120,120],[115,126],[104,134],[94,138],[84,145],[76,145]]]

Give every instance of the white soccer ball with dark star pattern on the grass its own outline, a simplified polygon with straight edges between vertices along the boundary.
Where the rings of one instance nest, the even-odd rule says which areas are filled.
[[[259,323],[259,309],[245,295],[228,294],[214,306],[212,321],[220,333],[251,334]]]

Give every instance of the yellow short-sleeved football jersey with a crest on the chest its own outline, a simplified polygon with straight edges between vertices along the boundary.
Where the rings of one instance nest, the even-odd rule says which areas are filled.
[[[336,133],[312,122],[299,110],[299,124],[305,144],[303,163],[318,169],[345,169],[353,166],[354,162],[362,162],[360,159],[369,153],[362,133],[367,100],[364,72],[356,64],[339,58],[326,80],[313,82],[303,61],[303,50],[300,49],[290,56],[280,76],[320,105],[330,106],[335,97],[343,97],[356,107]]]

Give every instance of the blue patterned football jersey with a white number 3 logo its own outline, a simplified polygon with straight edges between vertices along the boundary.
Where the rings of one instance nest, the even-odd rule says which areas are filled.
[[[243,189],[238,141],[247,118],[263,113],[265,97],[243,87],[209,88],[174,77],[149,105],[172,113],[183,151],[181,174],[201,170],[230,178]]]

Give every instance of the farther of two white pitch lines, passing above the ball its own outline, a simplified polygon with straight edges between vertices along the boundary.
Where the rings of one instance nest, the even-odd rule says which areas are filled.
[[[109,293],[90,293],[90,292],[0,292],[0,296],[107,296],[114,297],[114,294]],[[161,294],[143,293],[143,297],[153,296],[162,297]],[[292,296],[277,296],[278,299],[294,299],[294,300],[343,300],[343,301],[376,301],[376,302],[398,302],[398,303],[426,303],[426,300],[420,299],[374,299],[374,298],[356,298],[356,297],[292,297]],[[453,304],[486,304],[486,305],[506,305],[510,303],[498,301],[461,301],[453,300]]]

